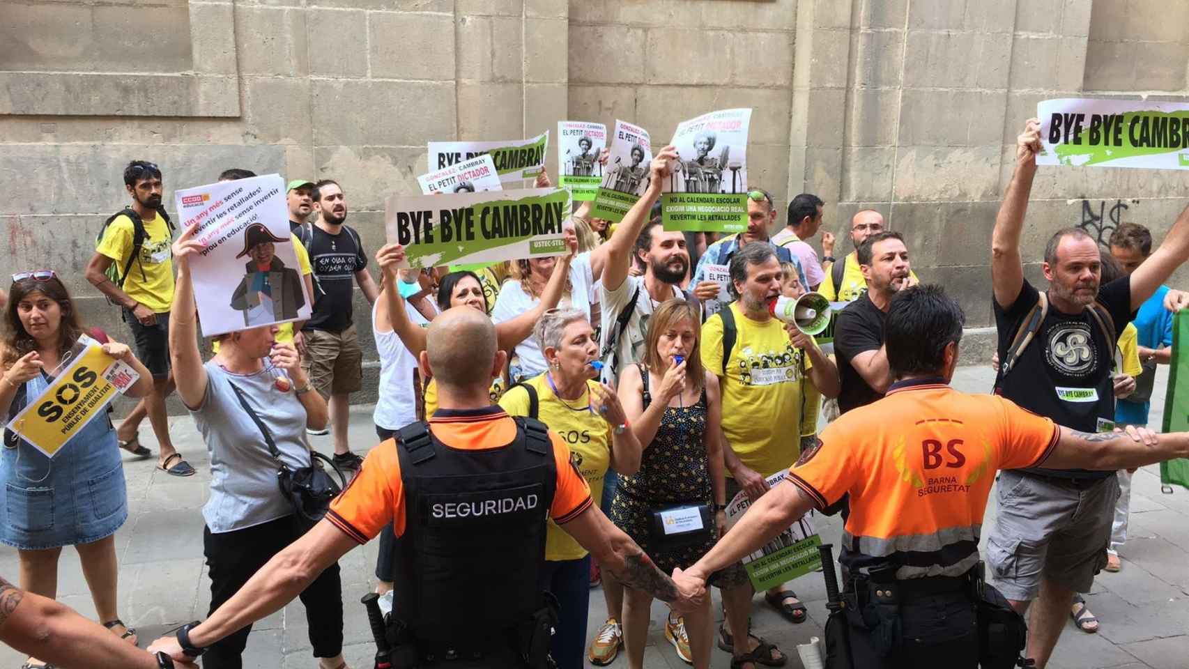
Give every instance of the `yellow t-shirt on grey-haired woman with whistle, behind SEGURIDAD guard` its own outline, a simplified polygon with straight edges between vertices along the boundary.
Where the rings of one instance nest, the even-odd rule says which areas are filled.
[[[537,418],[570,444],[570,461],[591,487],[594,505],[602,504],[603,478],[611,465],[611,425],[589,409],[590,389],[594,386],[594,381],[586,381],[586,392],[573,402],[558,399],[545,374],[533,377],[524,384],[536,390]],[[499,399],[499,405],[512,416],[528,416],[528,391],[522,387],[508,389]],[[586,557],[586,549],[549,520],[545,558],[561,561],[583,557]]]

